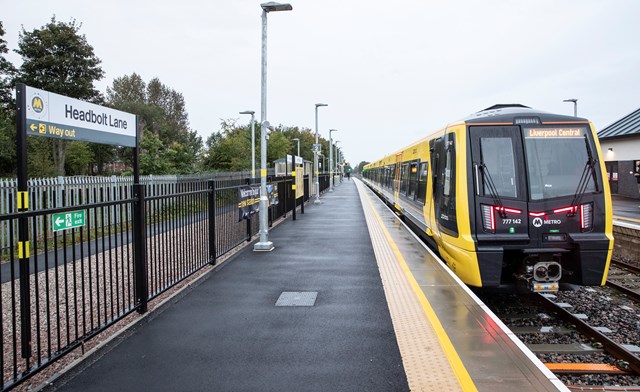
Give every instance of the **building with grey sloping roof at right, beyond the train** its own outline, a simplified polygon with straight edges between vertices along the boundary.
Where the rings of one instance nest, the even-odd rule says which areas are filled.
[[[611,193],[640,198],[632,171],[640,161],[640,109],[598,132]]]

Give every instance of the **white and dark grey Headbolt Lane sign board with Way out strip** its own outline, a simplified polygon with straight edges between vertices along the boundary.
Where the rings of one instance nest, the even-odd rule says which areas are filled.
[[[136,116],[25,86],[27,135],[136,146]]]

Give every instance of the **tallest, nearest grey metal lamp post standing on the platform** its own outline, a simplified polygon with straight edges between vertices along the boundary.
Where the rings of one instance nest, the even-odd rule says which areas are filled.
[[[267,211],[267,13],[291,11],[291,4],[276,2],[262,3],[262,77],[260,88],[260,240],[253,246],[254,251],[271,251],[273,242],[269,241]]]

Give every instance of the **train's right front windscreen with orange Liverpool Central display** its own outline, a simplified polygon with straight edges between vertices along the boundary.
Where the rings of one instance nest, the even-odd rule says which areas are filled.
[[[573,196],[580,179],[588,176],[585,193],[595,191],[587,166],[594,159],[586,127],[523,128],[531,200]]]

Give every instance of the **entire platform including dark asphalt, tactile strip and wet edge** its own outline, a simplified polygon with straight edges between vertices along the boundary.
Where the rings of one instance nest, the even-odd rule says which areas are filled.
[[[361,183],[322,201],[48,389],[566,390]]]

